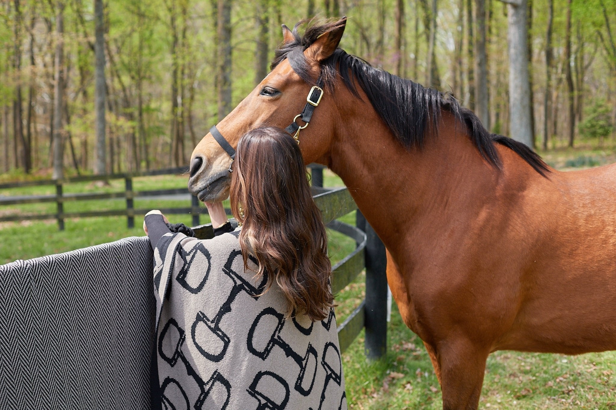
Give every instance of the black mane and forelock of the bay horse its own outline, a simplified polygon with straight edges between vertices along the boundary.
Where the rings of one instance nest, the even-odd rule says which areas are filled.
[[[310,22],[301,36],[298,33],[298,26],[302,23],[304,21],[293,28],[294,40],[280,45],[276,50],[271,68],[274,69],[287,58],[302,80],[314,84],[315,80],[310,74],[310,65],[304,57],[304,50],[323,33],[341,28],[344,20],[321,24]],[[469,137],[481,156],[495,167],[501,167],[501,160],[494,146],[494,143],[499,143],[516,152],[541,175],[545,176],[545,171],[549,171],[541,157],[525,144],[506,136],[490,134],[474,112],[460,106],[458,100],[450,93],[444,94],[374,68],[367,61],[347,54],[339,48],[321,62],[323,84],[329,90],[334,89],[336,74],[341,76],[346,87],[357,98],[360,98],[357,84],[362,87],[375,111],[406,148],[411,146],[421,148],[429,122],[432,122],[432,127],[437,132],[441,111],[447,110],[461,124],[466,125]]]

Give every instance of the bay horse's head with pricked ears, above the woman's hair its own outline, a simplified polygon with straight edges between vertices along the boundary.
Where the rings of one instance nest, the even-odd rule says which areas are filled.
[[[317,82],[321,73],[320,63],[338,47],[345,25],[346,18],[342,18],[338,22],[318,26],[319,30],[313,30],[314,33],[307,31],[304,37],[299,37],[296,29],[291,32],[283,26],[284,40],[277,50],[272,71],[217,124],[219,132],[233,148],[237,147],[240,137],[252,128],[265,124],[286,128],[293,122],[294,117],[302,112],[311,87]],[[309,45],[306,47],[302,43]],[[299,135],[299,148],[306,164],[325,162],[333,138],[337,110],[331,93],[326,87],[323,88],[323,98],[315,108],[310,126]],[[297,119],[297,123],[303,125],[301,118]],[[230,164],[229,154],[208,133],[192,153],[188,191],[207,202],[226,199],[229,195]]]

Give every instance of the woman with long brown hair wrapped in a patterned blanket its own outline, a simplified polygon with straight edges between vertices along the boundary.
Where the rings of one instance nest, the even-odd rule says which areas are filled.
[[[241,228],[206,204],[209,240],[145,217],[163,408],[346,409],[325,227],[290,135],[242,136],[230,201]]]

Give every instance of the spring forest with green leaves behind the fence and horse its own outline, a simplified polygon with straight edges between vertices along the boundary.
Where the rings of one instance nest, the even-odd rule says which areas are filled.
[[[616,0],[521,4],[530,141],[613,147]],[[510,12],[500,0],[2,0],[0,171],[187,165],[268,73],[282,23],[314,15],[347,15],[347,52],[452,92],[508,135]]]

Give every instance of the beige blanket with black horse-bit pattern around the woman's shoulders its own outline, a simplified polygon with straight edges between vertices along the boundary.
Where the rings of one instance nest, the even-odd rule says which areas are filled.
[[[167,234],[155,250],[156,350],[165,409],[346,409],[333,309],[285,320],[267,275],[245,272],[238,231]],[[251,261],[249,268],[255,269]]]

